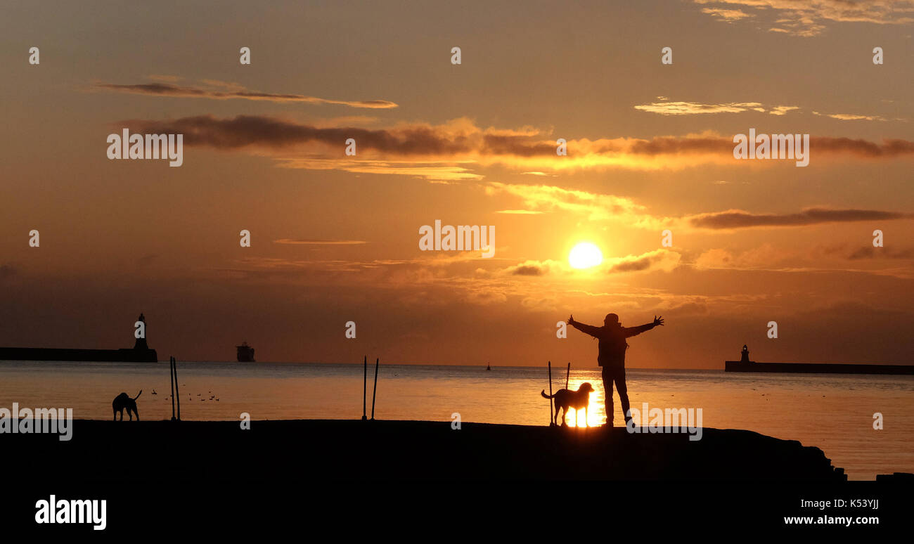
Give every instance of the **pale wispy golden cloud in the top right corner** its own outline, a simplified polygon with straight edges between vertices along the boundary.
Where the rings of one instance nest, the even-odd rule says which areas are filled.
[[[757,10],[758,15],[773,15],[771,32],[812,37],[821,34],[826,22],[865,22],[877,25],[905,25],[914,22],[912,0],[694,0],[696,4],[722,4]],[[721,8],[702,12],[730,22],[733,16],[720,15]],[[739,10],[732,10],[739,11]],[[754,14],[753,14],[754,15]],[[741,17],[739,17],[741,18]]]

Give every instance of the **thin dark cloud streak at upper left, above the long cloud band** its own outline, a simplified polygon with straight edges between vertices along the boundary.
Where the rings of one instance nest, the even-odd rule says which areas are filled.
[[[96,83],[95,87],[104,91],[125,92],[130,94],[143,94],[147,96],[166,96],[173,98],[205,98],[210,100],[250,100],[250,101],[271,101],[271,102],[303,102],[309,104],[332,104],[337,106],[349,106],[350,108],[369,108],[386,110],[397,108],[398,104],[391,101],[373,100],[373,101],[338,101],[304,94],[277,94],[272,92],[249,91],[244,87],[234,83],[224,83],[222,81],[207,80],[211,86],[222,86],[227,91],[217,91],[214,89],[204,89],[200,87],[182,87],[174,84],[174,81],[161,80],[165,76],[156,76],[160,81],[155,83],[133,83],[129,85],[119,85],[115,83]]]

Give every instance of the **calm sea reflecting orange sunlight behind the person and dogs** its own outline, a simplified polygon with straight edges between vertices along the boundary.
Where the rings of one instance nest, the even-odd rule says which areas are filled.
[[[554,388],[565,369],[553,370]],[[361,365],[178,363],[185,420],[357,419]],[[749,429],[822,448],[853,479],[914,473],[914,377],[733,374],[722,370],[629,369],[632,407],[701,408],[703,424]],[[368,368],[368,411],[374,368]],[[588,420],[605,421],[599,368],[572,369],[570,386],[590,381]],[[546,368],[381,366],[377,419],[546,425]],[[0,407],[67,407],[77,419],[111,419],[112,399],[136,395],[144,420],[171,417],[168,363],[0,362]],[[157,394],[153,394],[153,390]],[[211,399],[212,398],[212,399]],[[615,421],[622,409],[615,398]],[[884,416],[883,431],[873,414]],[[569,422],[573,422],[569,416]],[[581,418],[580,424],[584,421]]]

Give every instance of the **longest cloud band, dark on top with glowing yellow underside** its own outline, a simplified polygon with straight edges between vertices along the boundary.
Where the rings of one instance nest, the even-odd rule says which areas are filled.
[[[322,127],[260,115],[227,119],[197,115],[164,121],[126,120],[115,125],[126,126],[134,133],[181,133],[187,146],[266,155],[290,168],[404,174],[444,181],[479,179],[482,176],[471,168],[486,165],[505,165],[522,172],[559,172],[615,167],[660,170],[736,162],[732,135],[712,132],[650,139],[569,140],[569,155],[558,156],[556,141],[544,139],[538,132],[526,128],[484,129],[465,118],[437,125],[399,123],[377,129]],[[349,138],[356,140],[356,156],[343,154]],[[908,140],[877,144],[813,136],[810,147],[817,157],[914,156],[914,142]]]

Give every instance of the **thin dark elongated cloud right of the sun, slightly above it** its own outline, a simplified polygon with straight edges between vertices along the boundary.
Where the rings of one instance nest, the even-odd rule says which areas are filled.
[[[800,227],[822,223],[912,219],[914,214],[875,209],[804,208],[800,213],[757,214],[728,209],[690,216],[688,224],[699,229],[746,229],[751,227]]]

